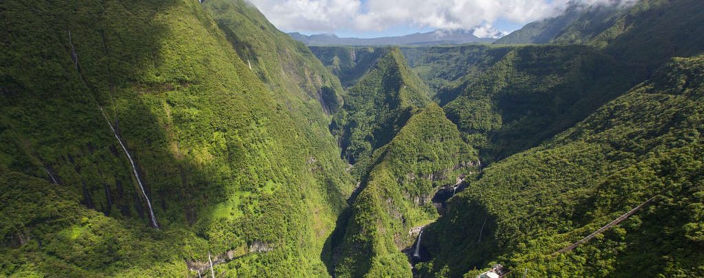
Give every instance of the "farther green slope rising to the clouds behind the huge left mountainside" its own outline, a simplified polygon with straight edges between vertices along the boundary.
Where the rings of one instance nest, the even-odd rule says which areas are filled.
[[[208,0],[203,6],[263,82],[280,91],[300,89],[301,95],[322,103],[328,114],[337,112],[342,104],[339,79],[306,46],[276,29],[244,0]],[[312,102],[309,110],[318,105]]]

